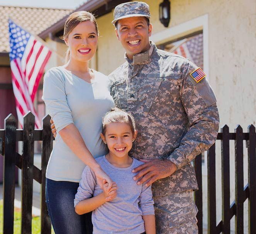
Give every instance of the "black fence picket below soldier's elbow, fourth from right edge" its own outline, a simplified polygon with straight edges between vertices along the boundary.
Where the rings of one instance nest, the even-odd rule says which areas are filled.
[[[216,166],[215,143],[207,151],[208,233],[216,234]]]

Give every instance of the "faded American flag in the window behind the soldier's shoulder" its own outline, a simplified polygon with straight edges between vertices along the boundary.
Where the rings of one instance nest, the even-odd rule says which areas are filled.
[[[203,69],[203,34],[200,33],[193,37],[173,43],[175,47],[170,52],[188,58],[198,67]]]

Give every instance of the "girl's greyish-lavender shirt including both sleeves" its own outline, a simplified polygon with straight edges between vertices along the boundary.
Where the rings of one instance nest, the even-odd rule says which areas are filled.
[[[105,202],[92,212],[93,234],[140,234],[145,231],[142,215],[154,215],[151,186],[137,185],[132,179],[132,169],[143,164],[133,159],[126,168],[115,167],[105,158],[98,157],[98,164],[117,184],[117,197]],[[75,196],[74,204],[102,193],[95,174],[86,166]]]

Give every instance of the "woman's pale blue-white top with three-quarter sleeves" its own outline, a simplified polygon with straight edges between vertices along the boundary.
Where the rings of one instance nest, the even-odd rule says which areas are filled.
[[[54,67],[44,75],[42,99],[56,130],[75,124],[87,148],[94,157],[107,152],[100,138],[102,117],[114,106],[110,95],[110,81],[106,75],[93,70],[92,83],[73,75],[64,67]],[[79,182],[85,164],[57,134],[46,171],[55,181]]]

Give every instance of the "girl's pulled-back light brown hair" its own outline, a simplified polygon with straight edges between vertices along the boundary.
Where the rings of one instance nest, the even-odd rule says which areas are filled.
[[[107,112],[102,119],[102,134],[106,133],[106,125],[110,123],[126,123],[131,127],[132,134],[134,135],[136,126],[134,117],[127,112],[118,108],[113,108]]]

